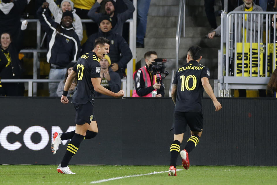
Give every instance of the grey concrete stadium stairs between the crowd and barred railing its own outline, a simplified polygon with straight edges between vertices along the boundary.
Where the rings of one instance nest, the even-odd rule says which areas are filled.
[[[221,2],[216,0],[215,10],[220,10]],[[178,22],[179,0],[160,1],[151,0],[148,17],[147,29],[144,39],[144,48],[136,49],[136,61],[143,58],[147,51],[156,51],[158,58],[166,58],[166,70],[169,75],[164,79],[165,96],[169,96],[171,86],[171,70],[175,69],[176,57],[176,31]],[[217,24],[220,24],[220,17],[216,17]],[[185,37],[181,36],[179,47],[179,66],[184,65],[186,53],[191,45],[202,47],[201,64],[210,69],[210,84],[214,88],[214,79],[217,79],[218,49],[220,49],[220,37],[212,40],[205,36],[211,30],[206,17],[204,0],[186,1]],[[183,35],[183,31],[181,33]],[[142,60],[137,68],[144,66]],[[207,94],[204,94],[207,97]]]

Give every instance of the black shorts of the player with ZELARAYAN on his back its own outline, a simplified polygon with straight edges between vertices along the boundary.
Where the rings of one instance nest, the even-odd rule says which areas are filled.
[[[177,112],[174,111],[174,119],[170,131],[173,134],[182,134],[186,132],[187,125],[191,131],[201,132],[203,129],[203,114],[201,112]]]

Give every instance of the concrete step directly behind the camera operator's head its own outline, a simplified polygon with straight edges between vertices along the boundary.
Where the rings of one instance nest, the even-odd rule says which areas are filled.
[[[158,58],[175,58],[176,57],[176,49],[175,48],[137,48],[136,49],[136,57],[138,59],[144,56],[144,53],[147,51],[156,51]],[[187,48],[180,48],[179,50],[179,58],[185,58],[187,55]],[[217,56],[218,48],[202,48],[202,56],[203,58],[214,58]]]

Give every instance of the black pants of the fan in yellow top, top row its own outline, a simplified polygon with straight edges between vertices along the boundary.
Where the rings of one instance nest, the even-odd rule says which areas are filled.
[[[80,9],[80,8],[74,8],[76,10],[76,14],[81,18],[81,19],[90,19],[87,16],[87,13],[89,10],[85,9]],[[86,31],[87,31],[87,37],[89,37],[91,34],[97,33],[98,32],[98,24],[97,23],[85,23],[86,25]]]

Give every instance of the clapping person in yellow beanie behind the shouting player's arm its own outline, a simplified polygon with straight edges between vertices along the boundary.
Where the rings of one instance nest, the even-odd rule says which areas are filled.
[[[121,89],[121,79],[118,73],[109,68],[111,65],[110,57],[105,55],[105,57],[101,59],[99,63],[101,65],[101,86],[112,92],[118,92]],[[109,97],[107,95],[102,95],[99,92],[95,92],[94,95],[95,97]]]

